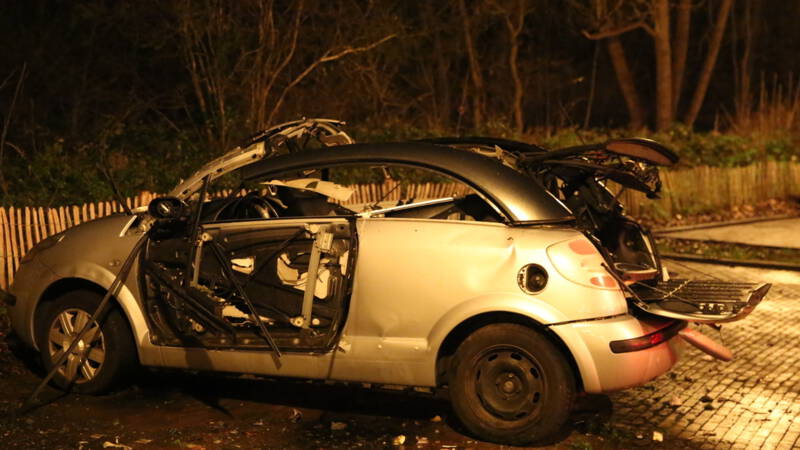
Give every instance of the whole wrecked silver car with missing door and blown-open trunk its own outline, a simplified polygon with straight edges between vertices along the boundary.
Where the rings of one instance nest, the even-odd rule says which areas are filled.
[[[475,436],[546,442],[578,393],[663,374],[683,340],[729,359],[687,324],[769,289],[669,279],[607,186],[657,195],[677,157],[655,142],[355,144],[341,125],[272,128],[147,211],[35,247],[9,304],[53,382],[103,392],[141,364],[446,388]],[[353,171],[455,194],[354,204]]]

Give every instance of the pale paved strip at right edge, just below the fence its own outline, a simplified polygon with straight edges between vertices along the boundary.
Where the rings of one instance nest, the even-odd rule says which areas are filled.
[[[800,218],[676,231],[664,236],[800,248]]]

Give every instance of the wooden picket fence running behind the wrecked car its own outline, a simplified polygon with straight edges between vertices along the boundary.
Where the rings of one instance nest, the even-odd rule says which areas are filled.
[[[770,198],[800,197],[800,164],[768,162],[739,168],[696,167],[663,171],[660,199],[625,190],[620,201],[633,216],[710,211],[752,204]],[[378,184],[349,186],[354,190],[345,205],[414,198],[417,200],[465,194],[460,183]],[[230,191],[218,195],[228,195]],[[143,192],[125,202],[131,208],[147,205],[156,194]],[[116,202],[43,207],[0,207],[0,289],[8,289],[20,259],[39,241],[83,222],[104,217],[122,208]]]

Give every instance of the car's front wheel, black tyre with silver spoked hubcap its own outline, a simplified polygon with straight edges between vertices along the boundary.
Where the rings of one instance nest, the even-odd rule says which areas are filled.
[[[48,373],[59,352],[74,341],[102,298],[97,292],[76,290],[62,295],[43,309],[36,322],[36,342]],[[119,308],[111,305],[96,323],[99,323],[99,333],[90,328],[81,344],[53,376],[51,382],[56,387],[83,394],[101,394],[119,387],[136,369],[138,357],[133,332]],[[83,359],[82,353],[87,350],[88,356],[78,366]],[[68,373],[76,375],[74,382],[67,378]]]

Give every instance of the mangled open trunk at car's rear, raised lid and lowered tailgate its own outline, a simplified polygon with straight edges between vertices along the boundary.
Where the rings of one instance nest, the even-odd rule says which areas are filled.
[[[467,137],[427,140],[470,150],[538,180],[561,200],[608,262],[609,273],[626,286],[636,308],[655,316],[696,323],[741,320],[769,291],[770,284],[712,280],[670,280],[649,230],[625,215],[622,190],[657,198],[659,168],[678,155],[650,139],[606,142],[547,150],[523,142]],[[619,185],[616,191],[607,181]]]

